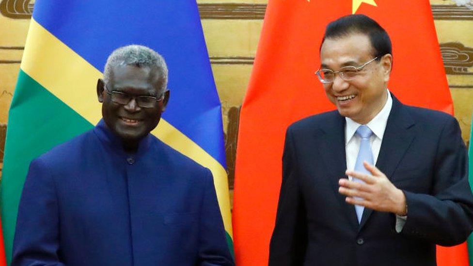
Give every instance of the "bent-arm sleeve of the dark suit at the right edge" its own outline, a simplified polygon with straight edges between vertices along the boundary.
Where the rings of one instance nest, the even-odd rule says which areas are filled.
[[[404,191],[408,218],[402,234],[442,246],[466,240],[473,230],[468,156],[457,120],[443,126],[437,148],[432,195]]]

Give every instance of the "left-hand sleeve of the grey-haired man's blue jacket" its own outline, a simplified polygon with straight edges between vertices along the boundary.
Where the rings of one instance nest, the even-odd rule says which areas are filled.
[[[12,266],[62,266],[59,216],[51,172],[41,159],[30,164],[21,195],[13,243]]]

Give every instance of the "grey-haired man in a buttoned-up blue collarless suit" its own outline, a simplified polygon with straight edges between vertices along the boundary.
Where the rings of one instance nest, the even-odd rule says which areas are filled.
[[[149,134],[167,77],[150,48],[110,55],[103,120],[30,165],[12,265],[234,265],[211,172]]]

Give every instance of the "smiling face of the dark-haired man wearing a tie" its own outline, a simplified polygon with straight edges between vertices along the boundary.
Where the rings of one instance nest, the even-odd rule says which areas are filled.
[[[374,49],[365,34],[327,38],[320,49],[320,68],[338,71],[344,66],[358,67],[374,57]],[[323,84],[327,97],[342,116],[366,124],[378,114],[387,100],[392,59],[390,54],[384,55],[367,64],[349,81],[337,75],[333,82]]]

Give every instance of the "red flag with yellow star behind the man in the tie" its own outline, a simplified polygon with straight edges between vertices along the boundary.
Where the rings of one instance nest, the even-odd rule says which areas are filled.
[[[239,122],[233,226],[239,266],[268,264],[284,133],[335,107],[314,72],[326,25],[365,14],[388,31],[394,68],[388,88],[401,102],[453,114],[428,0],[270,0]],[[438,248],[439,266],[466,266],[466,245]]]

